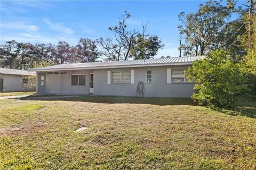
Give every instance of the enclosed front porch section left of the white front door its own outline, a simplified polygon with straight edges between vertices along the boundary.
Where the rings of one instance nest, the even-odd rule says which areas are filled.
[[[93,94],[93,71],[37,72],[39,95],[89,95]]]

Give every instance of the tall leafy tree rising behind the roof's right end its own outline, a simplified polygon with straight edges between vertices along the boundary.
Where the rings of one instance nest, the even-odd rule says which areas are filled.
[[[180,45],[185,55],[205,55],[211,50],[218,49],[227,39],[222,34],[231,13],[234,11],[234,2],[229,1],[227,6],[217,1],[208,1],[200,4],[196,13],[181,12],[178,26],[180,34],[185,36],[185,44]]]

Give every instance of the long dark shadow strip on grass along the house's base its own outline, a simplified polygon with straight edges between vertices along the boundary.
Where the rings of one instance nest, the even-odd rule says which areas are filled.
[[[33,97],[33,99],[31,99]],[[45,97],[45,98],[44,98]],[[151,105],[193,105],[197,104],[190,98],[158,98],[158,97],[124,97],[124,96],[67,96],[61,95],[38,95],[27,96],[20,99],[29,100],[60,100],[60,101],[84,101],[91,103],[105,103],[105,104],[151,104]]]

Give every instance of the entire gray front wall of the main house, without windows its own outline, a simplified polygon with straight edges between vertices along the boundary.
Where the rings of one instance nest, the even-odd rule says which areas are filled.
[[[94,71],[73,71],[67,72],[67,74],[60,74],[60,94],[89,94],[89,74],[94,74],[94,89],[93,95],[99,96],[136,96],[137,85],[139,81],[145,83],[145,94],[144,97],[182,97],[189,98],[193,95],[193,83],[167,83],[167,69],[187,69],[188,65],[182,66],[155,66],[155,67],[133,67],[133,68],[121,68],[121,69],[97,69]],[[131,71],[134,70],[134,84],[114,84],[107,83],[107,72],[108,71]],[[146,83],[146,71],[152,71],[152,82]],[[77,87],[71,86],[71,74],[85,74],[86,75],[86,86]],[[48,81],[54,81],[51,83],[49,88],[52,91],[58,91],[58,74],[53,79],[48,79],[47,74],[38,73],[45,76],[45,84]],[[51,74],[52,75],[52,74]],[[57,82],[56,82],[57,81]],[[38,79],[38,94],[44,93],[55,93],[51,90],[45,89],[44,86],[39,86],[40,81]],[[57,85],[56,85],[57,84]],[[52,88],[51,88],[52,87]],[[57,88],[57,89],[56,89]]]

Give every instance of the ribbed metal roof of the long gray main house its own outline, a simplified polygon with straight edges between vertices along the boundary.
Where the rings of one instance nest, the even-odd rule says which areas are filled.
[[[40,67],[40,68],[36,68],[36,69],[31,69],[31,70],[33,70],[33,71],[90,70],[90,69],[107,69],[107,68],[117,68],[117,67],[186,65],[186,64],[192,64],[192,62],[194,62],[198,58],[203,58],[203,56],[156,58],[156,59],[148,59],[148,60],[128,60],[128,61],[59,64],[59,65]]]

